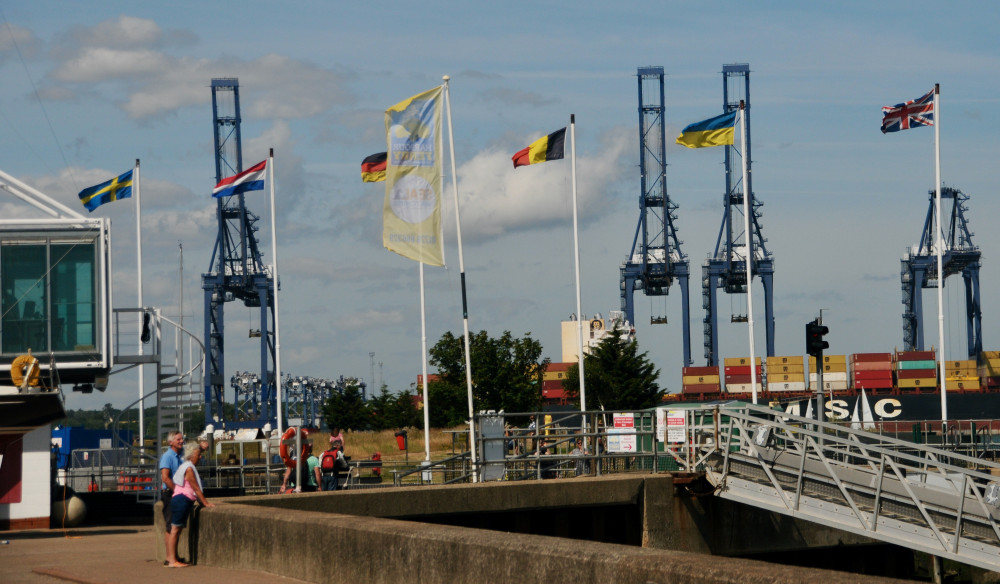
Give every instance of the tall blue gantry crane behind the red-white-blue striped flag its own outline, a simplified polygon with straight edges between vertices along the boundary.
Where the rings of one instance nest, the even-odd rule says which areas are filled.
[[[215,139],[215,180],[243,171],[240,133],[240,85],[235,78],[212,79],[212,116]],[[202,274],[205,292],[205,423],[217,429],[261,428],[277,422],[275,379],[273,267],[265,265],[257,245],[259,217],[246,206],[241,193],[217,199],[219,224],[208,272]],[[252,391],[235,392],[233,408],[225,399],[225,318],[227,302],[241,301],[260,310],[261,382]],[[270,325],[269,325],[270,323]]]

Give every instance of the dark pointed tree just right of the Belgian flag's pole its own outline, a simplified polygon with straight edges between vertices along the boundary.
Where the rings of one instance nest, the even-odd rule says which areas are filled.
[[[639,343],[625,342],[621,331],[612,329],[594,350],[584,356],[587,408],[591,410],[642,410],[660,403],[659,369],[639,353]],[[580,368],[570,366],[563,389],[579,401]]]

